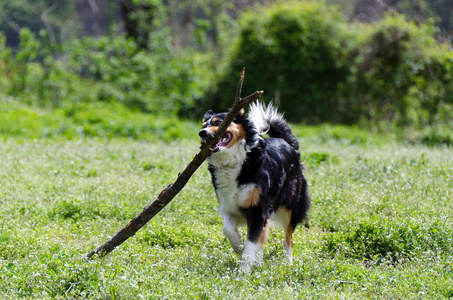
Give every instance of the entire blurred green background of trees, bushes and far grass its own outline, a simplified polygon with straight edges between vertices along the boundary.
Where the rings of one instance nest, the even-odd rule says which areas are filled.
[[[183,137],[231,106],[246,67],[243,94],[263,89],[293,123],[449,144],[452,14],[451,0],[0,1],[0,135]]]

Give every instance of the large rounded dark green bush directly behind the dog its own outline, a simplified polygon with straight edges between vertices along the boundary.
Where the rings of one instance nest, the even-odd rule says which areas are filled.
[[[245,66],[245,95],[264,89],[265,98],[274,99],[291,121],[334,120],[331,99],[347,76],[348,38],[341,18],[314,3],[279,3],[245,14],[213,100],[215,109],[231,103],[230,94],[222,92],[234,91],[235,75]]]

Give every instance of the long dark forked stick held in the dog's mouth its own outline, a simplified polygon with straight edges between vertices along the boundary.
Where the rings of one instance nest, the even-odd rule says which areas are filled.
[[[263,91],[256,91],[253,94],[245,98],[241,98],[242,84],[245,77],[245,68],[242,69],[239,82],[236,88],[236,98],[233,108],[228,112],[225,120],[220,124],[217,131],[214,133],[214,136],[211,139],[208,139],[206,143],[202,146],[200,152],[193,158],[189,165],[184,169],[182,173],[178,175],[176,181],[172,184],[169,184],[159,196],[148,206],[146,206],[143,211],[133,218],[129,224],[127,224],[123,229],[121,229],[117,234],[112,236],[104,244],[91,251],[86,255],[86,259],[93,258],[94,255],[99,257],[104,257],[110,252],[113,251],[116,247],[121,245],[131,236],[142,228],[149,220],[151,220],[159,211],[162,210],[186,185],[190,177],[195,173],[198,167],[205,161],[212,153],[212,147],[219,141],[223,136],[228,126],[231,124],[233,119],[237,114],[247,106],[249,103],[257,100],[264,93]]]

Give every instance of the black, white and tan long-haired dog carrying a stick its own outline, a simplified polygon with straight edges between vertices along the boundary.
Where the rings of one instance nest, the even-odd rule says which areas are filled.
[[[200,140],[213,136],[227,113],[206,112]],[[265,134],[269,137],[265,138]],[[292,263],[292,235],[310,207],[307,181],[302,173],[299,143],[282,114],[272,105],[251,104],[227,128],[207,158],[219,202],[223,233],[237,253],[240,270],[260,264],[272,221],[283,227],[283,247]],[[238,227],[247,226],[243,242]]]

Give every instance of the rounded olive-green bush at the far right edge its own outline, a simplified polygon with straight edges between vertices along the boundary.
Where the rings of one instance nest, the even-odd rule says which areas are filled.
[[[453,87],[453,55],[436,44],[435,32],[400,17],[374,26],[351,52],[351,75],[339,86],[339,101],[349,103],[347,119],[432,123]]]

